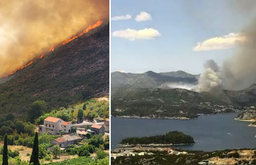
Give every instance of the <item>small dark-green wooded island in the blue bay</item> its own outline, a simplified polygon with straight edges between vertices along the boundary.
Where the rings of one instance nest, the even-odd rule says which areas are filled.
[[[179,131],[168,132],[165,135],[151,137],[124,138],[121,146],[174,146],[193,145],[194,138]]]

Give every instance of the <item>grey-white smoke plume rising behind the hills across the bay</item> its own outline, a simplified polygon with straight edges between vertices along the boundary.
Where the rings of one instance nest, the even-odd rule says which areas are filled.
[[[242,90],[256,83],[256,1],[230,1],[231,8],[242,16],[252,17],[249,25],[242,29],[245,41],[238,44],[233,56],[219,68],[214,61],[205,64],[205,72],[198,80],[198,91],[209,91],[221,87]]]

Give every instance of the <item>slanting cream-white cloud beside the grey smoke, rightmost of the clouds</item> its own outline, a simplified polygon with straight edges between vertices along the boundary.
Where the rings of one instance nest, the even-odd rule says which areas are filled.
[[[208,40],[197,43],[193,51],[211,51],[219,49],[228,49],[234,46],[236,43],[245,41],[245,36],[241,33],[229,33],[224,36],[216,36]]]

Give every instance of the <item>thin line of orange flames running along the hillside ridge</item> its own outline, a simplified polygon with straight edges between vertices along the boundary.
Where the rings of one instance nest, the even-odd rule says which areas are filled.
[[[101,17],[101,19],[103,19],[103,17]],[[79,37],[79,36],[82,36],[84,33],[87,33],[89,32],[90,30],[92,30],[93,28],[96,28],[96,27],[100,27],[100,25],[103,23],[103,20],[98,20],[94,25],[90,25],[87,29],[85,29],[82,33],[79,33],[79,35],[76,35],[76,36],[73,36],[73,37],[70,37],[69,39],[67,39],[66,41],[64,41],[64,43],[60,44],[59,46],[62,46],[64,44],[67,44],[69,43],[70,41],[74,40],[75,38]],[[59,48],[59,46],[57,48]],[[51,46],[51,48],[49,49],[49,51],[47,53],[49,53],[50,51],[54,51],[54,46]],[[38,59],[41,59],[43,58],[43,56],[45,56],[45,54],[41,54],[40,57],[37,57],[34,61],[31,61],[29,62],[27,65],[25,66],[22,66],[22,67],[18,67],[14,72],[11,72],[7,75],[2,75],[0,78],[3,78],[3,77],[7,77],[9,75],[12,75],[12,74],[15,74],[18,70],[21,70],[27,66],[30,66],[33,62],[36,62]]]

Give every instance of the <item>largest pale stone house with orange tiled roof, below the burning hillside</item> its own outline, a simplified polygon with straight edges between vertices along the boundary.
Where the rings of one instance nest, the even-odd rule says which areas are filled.
[[[61,124],[64,121],[56,117],[47,117],[43,125],[39,126],[39,133],[49,132],[50,135],[56,135],[61,131]]]

